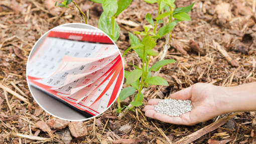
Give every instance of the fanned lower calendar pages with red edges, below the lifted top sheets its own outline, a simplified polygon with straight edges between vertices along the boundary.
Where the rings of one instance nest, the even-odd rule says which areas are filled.
[[[109,74],[103,75],[100,80],[72,95],[68,95],[68,97],[63,96],[62,93],[56,90],[46,91],[80,110],[86,111],[91,115],[97,115],[106,110],[117,97],[117,92],[120,90],[120,84],[123,80],[122,73],[122,65],[119,65]]]

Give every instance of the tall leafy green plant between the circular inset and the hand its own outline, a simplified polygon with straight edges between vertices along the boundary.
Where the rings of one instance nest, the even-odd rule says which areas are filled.
[[[122,89],[119,97],[117,98],[118,109],[117,112],[121,112],[121,110],[126,107],[130,110],[133,110],[135,106],[142,105],[143,101],[143,93],[142,89],[144,87],[149,87],[150,85],[164,85],[169,86],[168,82],[159,76],[151,76],[152,71],[159,71],[161,67],[166,64],[174,63],[175,60],[166,59],[156,62],[152,67],[149,67],[149,60],[151,56],[157,56],[158,53],[153,50],[156,46],[156,41],[161,39],[163,36],[168,36],[168,39],[172,36],[172,30],[175,27],[176,23],[181,21],[190,21],[190,17],[187,14],[193,7],[191,4],[188,7],[182,7],[175,9],[174,1],[175,0],[144,0],[147,3],[158,4],[158,16],[153,20],[152,16],[148,13],[145,18],[153,27],[153,32],[150,31],[150,27],[144,26],[145,31],[143,32],[135,32],[134,34],[143,36],[142,41],[139,40],[138,37],[129,33],[130,35],[130,43],[131,47],[125,50],[122,56],[124,56],[128,51],[133,49],[139,57],[142,59],[142,68],[139,66],[133,65],[136,69],[132,72],[125,71],[124,76],[126,79],[127,87]],[[168,17],[166,20],[165,18]],[[175,20],[173,20],[175,18]],[[164,23],[164,27],[160,28],[158,31],[157,26],[160,23]],[[166,43],[169,44],[169,41]],[[138,93],[135,95],[133,101],[130,103],[130,106],[120,107],[120,101],[125,98],[133,95],[138,90]]]

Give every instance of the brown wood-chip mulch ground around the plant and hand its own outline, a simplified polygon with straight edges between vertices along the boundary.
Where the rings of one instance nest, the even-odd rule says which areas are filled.
[[[102,12],[100,5],[90,1],[76,2],[83,12],[89,12],[88,23],[97,27]],[[145,117],[142,109],[149,99],[164,99],[170,93],[197,82],[233,86],[256,81],[255,0],[197,1],[189,13],[192,21],[179,24],[174,29],[166,58],[175,59],[177,63],[165,66],[159,74],[169,82],[169,87],[152,87],[144,99],[144,106],[136,112],[127,113],[122,120],[116,119],[116,103],[103,115],[88,121],[70,123],[54,119],[36,104],[26,81],[26,63],[35,42],[51,28],[81,22],[76,11],[56,9],[54,3],[52,0],[0,2],[0,143],[174,142],[205,128],[219,117],[194,126],[163,123]],[[188,6],[191,3],[182,0],[177,1],[176,6]],[[157,7],[134,0],[129,9],[117,17],[121,32],[116,44],[121,52],[130,46],[128,32],[141,31],[144,24],[149,25],[145,20],[147,13],[156,17]],[[161,52],[164,42],[164,39],[159,40],[155,50]],[[218,45],[228,52],[231,63],[219,52]],[[134,52],[129,52],[124,59],[126,63],[141,65]],[[152,58],[150,65],[157,59]],[[125,67],[127,71],[133,69],[131,65]],[[16,91],[28,99],[29,104],[10,91]],[[122,104],[127,105],[129,100],[126,99]],[[220,118],[223,116],[226,115]],[[206,127],[203,129],[206,134],[192,141],[255,143],[255,118],[255,112],[238,113],[211,132]],[[199,134],[195,134],[200,135],[200,131],[197,132]]]

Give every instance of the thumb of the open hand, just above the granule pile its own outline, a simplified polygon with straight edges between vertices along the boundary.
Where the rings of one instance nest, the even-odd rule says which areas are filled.
[[[172,99],[180,99],[180,100],[187,100],[187,99],[190,99],[191,96],[192,96],[192,86],[186,88],[186,89],[183,89],[183,90],[180,90],[178,92],[175,92],[173,94],[170,95],[170,98]]]

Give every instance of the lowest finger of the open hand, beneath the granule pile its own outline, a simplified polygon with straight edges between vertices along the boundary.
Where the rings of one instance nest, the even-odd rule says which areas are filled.
[[[182,118],[178,116],[169,116],[163,113],[155,113],[154,118],[167,123],[183,124]]]

